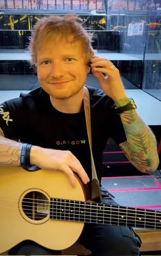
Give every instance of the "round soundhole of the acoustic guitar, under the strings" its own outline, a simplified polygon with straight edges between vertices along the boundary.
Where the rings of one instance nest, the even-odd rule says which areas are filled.
[[[30,191],[22,200],[22,209],[31,220],[43,220],[50,213],[48,198],[40,191]]]

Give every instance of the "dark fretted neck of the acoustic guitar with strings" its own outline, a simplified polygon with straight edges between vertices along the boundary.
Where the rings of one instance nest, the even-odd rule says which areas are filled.
[[[161,211],[50,199],[50,219],[161,229]]]

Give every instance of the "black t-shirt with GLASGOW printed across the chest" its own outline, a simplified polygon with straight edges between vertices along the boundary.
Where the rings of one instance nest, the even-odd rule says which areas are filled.
[[[87,88],[91,104],[93,158],[100,179],[102,152],[108,137],[121,143],[126,141],[126,135],[113,100],[104,95],[101,89]],[[0,127],[8,139],[44,148],[70,150],[91,178],[91,156],[84,111],[76,114],[61,113],[52,106],[49,95],[38,88],[1,104]]]

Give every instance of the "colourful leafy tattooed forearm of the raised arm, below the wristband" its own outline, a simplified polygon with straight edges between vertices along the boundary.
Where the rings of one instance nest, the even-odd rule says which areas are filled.
[[[135,110],[121,113],[126,139],[121,149],[130,162],[141,172],[154,171],[158,167],[156,139]]]

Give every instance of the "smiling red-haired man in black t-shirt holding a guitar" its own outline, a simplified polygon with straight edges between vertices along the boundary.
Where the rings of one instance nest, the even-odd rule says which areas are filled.
[[[141,172],[158,167],[156,140],[126,96],[119,71],[110,60],[95,56],[91,34],[76,16],[48,16],[34,27],[29,51],[41,88],[1,104],[2,166],[32,165],[60,170],[76,183],[74,173],[91,187],[91,161],[83,88],[89,69],[100,89],[88,88],[91,104],[93,158],[102,176],[102,152],[108,137],[119,144]],[[8,113],[8,118],[4,113]],[[17,141],[21,142],[17,142]],[[27,144],[25,144],[27,143]],[[113,198],[102,191],[104,203]],[[44,236],[48,240],[48,236]],[[93,256],[139,255],[141,242],[123,226],[85,224],[79,238]],[[12,249],[11,254],[53,255],[55,252],[32,241]],[[57,254],[57,252],[56,252]]]

